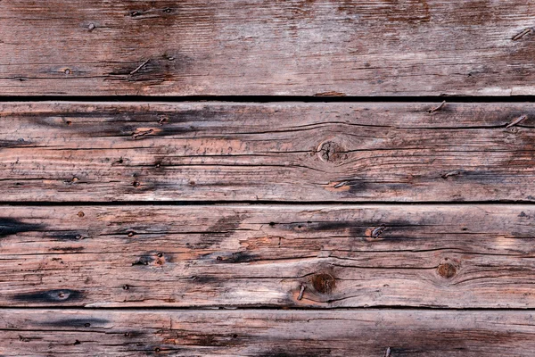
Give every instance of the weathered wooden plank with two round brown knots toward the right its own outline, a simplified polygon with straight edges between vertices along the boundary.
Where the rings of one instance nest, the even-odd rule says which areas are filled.
[[[535,307],[532,205],[0,209],[2,306]]]

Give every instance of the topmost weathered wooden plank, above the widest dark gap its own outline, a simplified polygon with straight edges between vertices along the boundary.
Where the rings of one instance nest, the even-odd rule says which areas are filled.
[[[534,95],[525,0],[10,0],[2,95]]]

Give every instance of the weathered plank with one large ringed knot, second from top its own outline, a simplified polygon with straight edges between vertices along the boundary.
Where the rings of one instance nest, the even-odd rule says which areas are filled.
[[[0,117],[4,202],[535,201],[535,104],[11,103]]]

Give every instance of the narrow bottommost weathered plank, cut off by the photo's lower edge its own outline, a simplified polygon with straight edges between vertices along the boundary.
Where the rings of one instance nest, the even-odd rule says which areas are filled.
[[[6,310],[0,353],[138,356],[531,356],[522,311]]]

